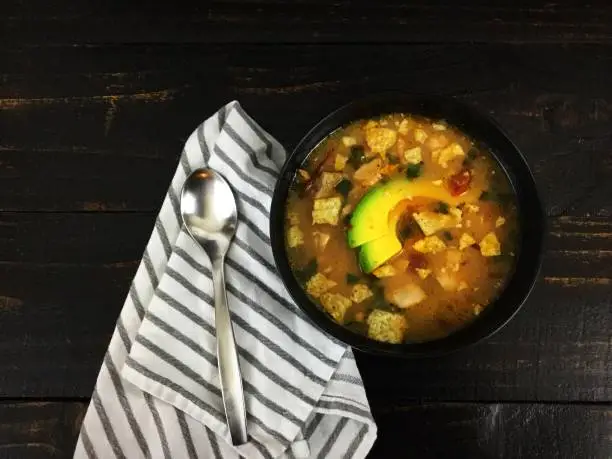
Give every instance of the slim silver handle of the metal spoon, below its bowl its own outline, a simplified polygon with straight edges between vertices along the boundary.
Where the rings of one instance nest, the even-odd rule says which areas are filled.
[[[246,409],[242,376],[234,340],[232,318],[227,305],[223,258],[212,263],[213,287],[215,293],[215,327],[217,330],[217,361],[221,379],[221,394],[225,406],[225,416],[230,429],[232,443],[241,445],[247,442]]]

